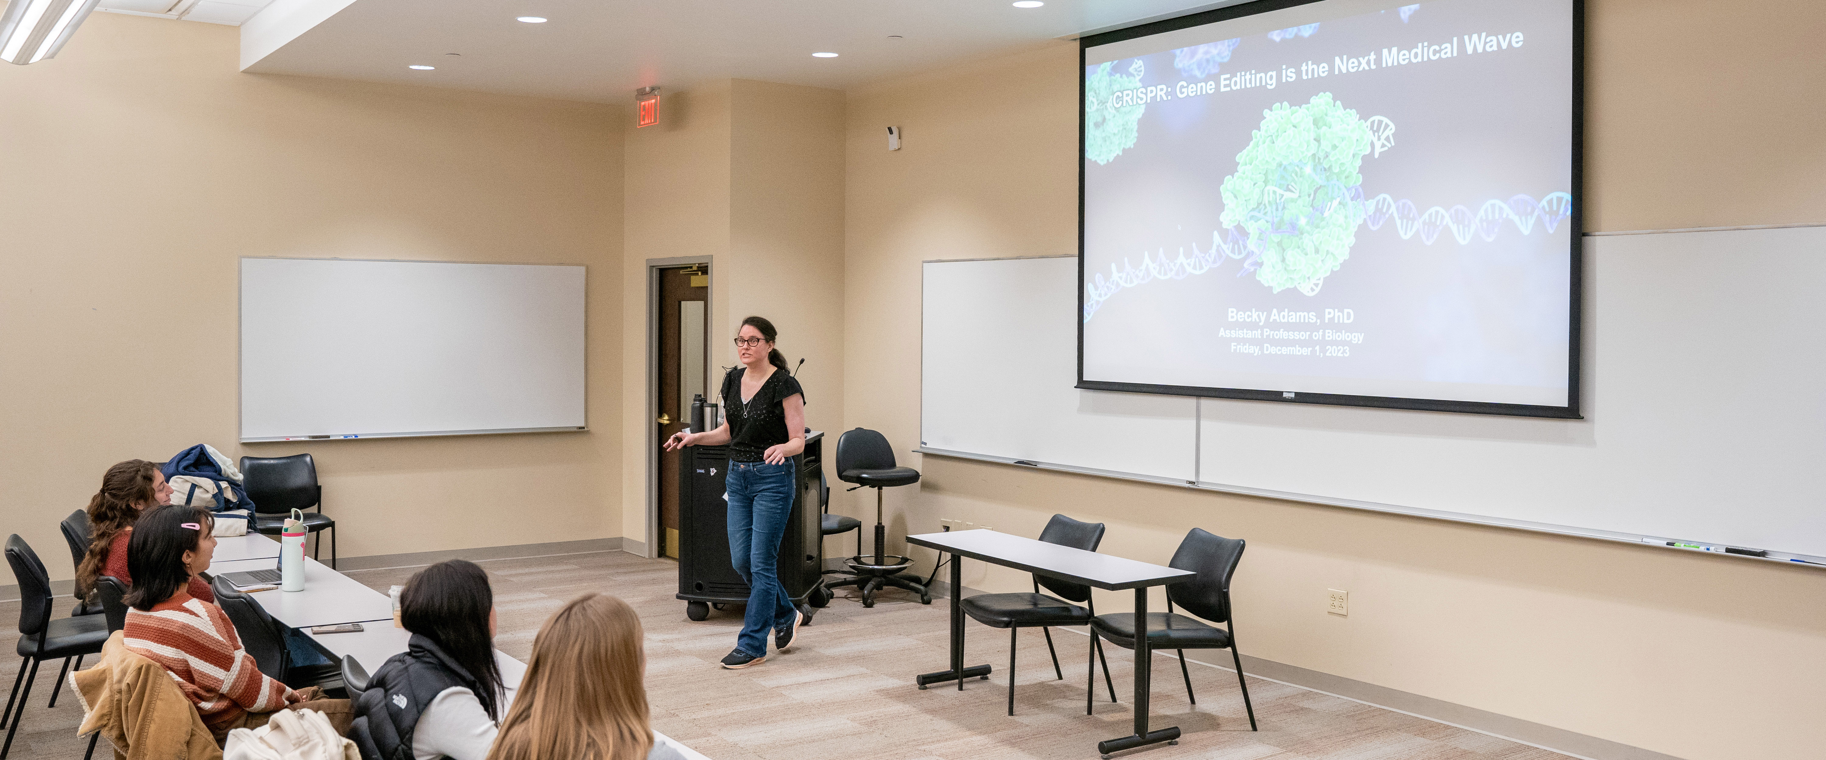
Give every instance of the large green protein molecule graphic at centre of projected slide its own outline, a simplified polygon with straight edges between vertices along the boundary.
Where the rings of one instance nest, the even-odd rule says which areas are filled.
[[[1223,179],[1222,217],[1247,233],[1262,284],[1276,293],[1317,288],[1351,255],[1364,221],[1351,188],[1364,180],[1371,142],[1370,126],[1331,93],[1262,111],[1262,128],[1236,153],[1236,173]]]

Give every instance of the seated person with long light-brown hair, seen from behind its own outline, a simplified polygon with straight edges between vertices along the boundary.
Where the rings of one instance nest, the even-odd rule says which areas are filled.
[[[634,607],[608,594],[553,612],[488,760],[683,760],[654,742],[641,640]]]

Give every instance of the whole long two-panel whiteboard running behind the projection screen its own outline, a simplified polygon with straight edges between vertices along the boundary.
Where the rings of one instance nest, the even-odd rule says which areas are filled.
[[[1070,386],[1076,355],[1068,317],[1035,317],[1054,306],[1039,282],[1057,279],[1050,272],[1057,261],[1010,259],[975,266],[968,277],[940,270],[959,264],[926,264],[928,448],[995,461],[1063,452],[1037,463],[1165,474],[1134,468],[1139,452],[1174,447],[1163,430],[1077,441],[1046,437],[1081,423],[1019,430],[1024,419],[1077,414],[1044,390]],[[935,286],[962,288],[957,279],[968,281],[970,299],[935,297]],[[1225,492],[1826,561],[1817,483],[1826,452],[1826,334],[1808,328],[1819,282],[1826,282],[1826,228],[1589,237],[1585,419],[1185,399],[1196,405],[1191,479]],[[970,324],[1028,348],[1006,359],[975,352],[975,365],[960,365],[953,350],[933,346],[957,339],[957,330],[933,330],[935,323]],[[1065,370],[1052,366],[1059,361],[1035,365],[1041,352],[1065,357]],[[933,416],[933,390],[955,394],[960,377],[982,377],[979,388],[997,390],[992,419],[1006,426],[986,434],[970,428],[984,423]]]

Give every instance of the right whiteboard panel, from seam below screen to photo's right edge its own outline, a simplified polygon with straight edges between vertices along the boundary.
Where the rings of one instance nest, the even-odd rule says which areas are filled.
[[[1822,252],[1826,228],[1587,237],[1585,419],[1207,399],[1202,476],[1826,556]]]

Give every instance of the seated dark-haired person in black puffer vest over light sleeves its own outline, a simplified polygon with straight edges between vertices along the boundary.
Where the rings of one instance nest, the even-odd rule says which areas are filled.
[[[349,738],[362,756],[484,760],[526,671],[495,651],[495,592],[473,561],[447,560],[405,581],[407,651],[369,678]],[[394,694],[400,700],[394,700]],[[405,702],[405,704],[400,704]]]

